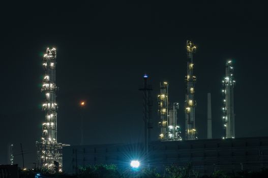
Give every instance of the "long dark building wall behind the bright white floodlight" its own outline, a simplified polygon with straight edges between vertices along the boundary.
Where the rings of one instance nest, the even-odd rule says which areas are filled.
[[[148,158],[142,144],[102,144],[67,146],[63,150],[63,168],[73,174],[77,167],[89,164],[116,164],[121,169],[129,167],[133,159],[141,164],[150,163],[159,171],[165,165],[184,166],[191,162],[201,174],[214,170],[227,172],[259,171],[268,168],[268,137],[207,139],[187,141],[156,141],[150,145]]]

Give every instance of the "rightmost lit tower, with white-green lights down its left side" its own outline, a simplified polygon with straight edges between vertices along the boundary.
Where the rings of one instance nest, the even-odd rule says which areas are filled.
[[[234,125],[234,112],[233,112],[233,67],[232,61],[227,61],[225,68],[225,77],[222,80],[223,84],[223,138],[234,138],[235,137],[235,125]]]

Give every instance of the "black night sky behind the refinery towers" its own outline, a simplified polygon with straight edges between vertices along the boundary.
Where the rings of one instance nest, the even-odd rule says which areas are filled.
[[[234,60],[236,137],[268,136],[267,11],[256,1],[12,2],[1,5],[1,142],[25,163],[36,162],[41,138],[42,54],[57,48],[58,141],[80,142],[78,103],[86,100],[85,143],[143,140],[143,73],[154,87],[154,135],[157,139],[159,82],[170,83],[170,100],[181,104],[184,127],[186,40],[194,55],[196,128],[206,137],[206,93],[212,93],[213,137],[222,136],[221,79],[228,58]],[[266,11],[266,12],[265,12]],[[15,163],[22,165],[20,155]]]

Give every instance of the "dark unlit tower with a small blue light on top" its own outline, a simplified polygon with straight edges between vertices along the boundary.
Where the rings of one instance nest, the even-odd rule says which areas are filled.
[[[143,76],[143,86],[139,88],[143,92],[143,121],[144,121],[144,151],[148,154],[148,144],[150,143],[151,138],[151,129],[153,128],[152,124],[152,100],[151,100],[151,91],[152,85],[148,85],[148,75],[144,74]]]

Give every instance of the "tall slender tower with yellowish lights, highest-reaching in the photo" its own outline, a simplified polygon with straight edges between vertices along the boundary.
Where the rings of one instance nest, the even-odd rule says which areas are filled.
[[[197,139],[197,133],[195,128],[195,106],[196,101],[194,99],[194,84],[196,77],[193,74],[193,53],[196,51],[196,46],[193,42],[187,40],[187,91],[185,96],[185,139],[194,140]]]

